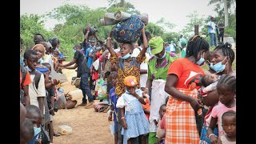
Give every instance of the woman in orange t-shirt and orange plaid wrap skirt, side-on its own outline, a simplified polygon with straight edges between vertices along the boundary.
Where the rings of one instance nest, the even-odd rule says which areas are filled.
[[[204,72],[200,66],[208,54],[209,43],[195,35],[187,43],[186,57],[169,66],[165,86],[170,94],[166,106],[166,143],[199,143],[195,113],[202,112],[198,89]]]

